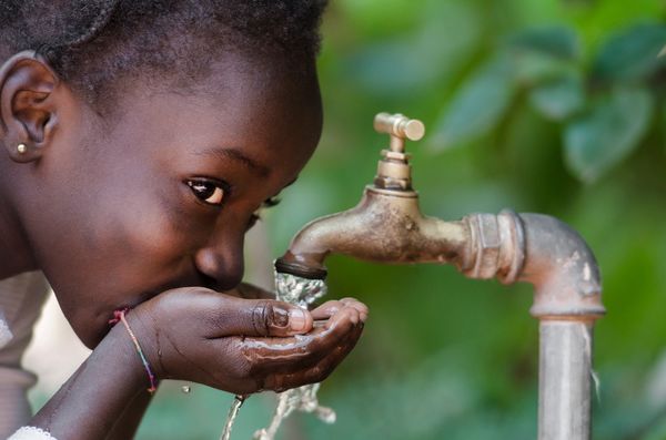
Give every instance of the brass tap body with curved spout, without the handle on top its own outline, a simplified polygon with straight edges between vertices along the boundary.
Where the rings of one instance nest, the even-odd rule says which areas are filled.
[[[305,225],[275,263],[278,272],[324,278],[324,259],[342,254],[385,263],[466,264],[466,223],[424,216],[413,191],[367,186],[356,207]]]

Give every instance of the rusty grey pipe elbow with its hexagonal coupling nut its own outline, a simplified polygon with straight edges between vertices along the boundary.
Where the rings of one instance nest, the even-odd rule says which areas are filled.
[[[465,275],[533,284],[531,313],[539,319],[596,319],[605,314],[594,254],[568,225],[547,215],[511,211],[465,219],[471,232]]]

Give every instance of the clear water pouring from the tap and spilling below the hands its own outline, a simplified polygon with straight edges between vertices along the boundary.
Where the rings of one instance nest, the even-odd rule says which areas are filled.
[[[326,284],[323,279],[307,279],[290,274],[275,273],[275,298],[278,300],[307,308],[315,300],[326,295]],[[284,419],[294,411],[314,413],[320,420],[334,423],[335,411],[319,403],[316,398],[319,388],[320,383],[314,383],[279,393],[278,408],[275,408],[271,423],[266,428],[258,430],[254,433],[254,439],[274,440]],[[220,440],[230,439],[233,423],[245,398],[246,396],[235,397]]]

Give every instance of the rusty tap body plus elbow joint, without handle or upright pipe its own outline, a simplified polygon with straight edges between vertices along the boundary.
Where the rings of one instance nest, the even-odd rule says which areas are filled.
[[[306,224],[275,265],[278,272],[324,278],[324,260],[341,254],[383,264],[453,264],[470,278],[534,285],[538,319],[604,315],[595,257],[578,233],[542,214],[473,214],[457,222],[424,216],[415,192],[369,186],[356,207]]]

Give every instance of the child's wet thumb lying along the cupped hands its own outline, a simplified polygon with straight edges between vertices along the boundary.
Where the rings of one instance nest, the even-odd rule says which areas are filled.
[[[228,297],[213,314],[215,337],[292,336],[312,329],[312,315],[301,307],[271,299]]]

